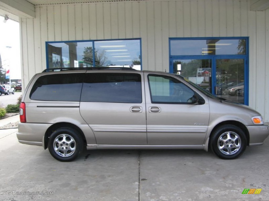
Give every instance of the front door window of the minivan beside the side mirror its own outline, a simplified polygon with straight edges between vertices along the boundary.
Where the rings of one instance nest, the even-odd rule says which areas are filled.
[[[179,80],[169,76],[148,76],[152,103],[190,103],[194,92]]]

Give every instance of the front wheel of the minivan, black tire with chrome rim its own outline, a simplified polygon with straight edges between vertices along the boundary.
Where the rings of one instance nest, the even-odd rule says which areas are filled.
[[[235,125],[226,124],[218,127],[212,133],[210,146],[218,157],[235,159],[245,151],[247,138],[242,129]]]

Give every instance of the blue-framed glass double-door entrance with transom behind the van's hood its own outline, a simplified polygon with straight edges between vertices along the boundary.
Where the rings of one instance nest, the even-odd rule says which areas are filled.
[[[169,72],[186,75],[216,96],[248,105],[248,47],[249,37],[169,38]],[[207,68],[210,76],[198,77]],[[243,88],[237,86],[242,82]]]

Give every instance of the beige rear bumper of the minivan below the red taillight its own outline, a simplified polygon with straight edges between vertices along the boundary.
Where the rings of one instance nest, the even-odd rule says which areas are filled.
[[[52,124],[19,123],[17,138],[22,144],[44,147],[44,136]]]

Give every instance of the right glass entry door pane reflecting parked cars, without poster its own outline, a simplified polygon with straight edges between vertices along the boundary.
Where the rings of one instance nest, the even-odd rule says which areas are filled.
[[[245,101],[245,59],[216,58],[214,94],[231,101]]]

